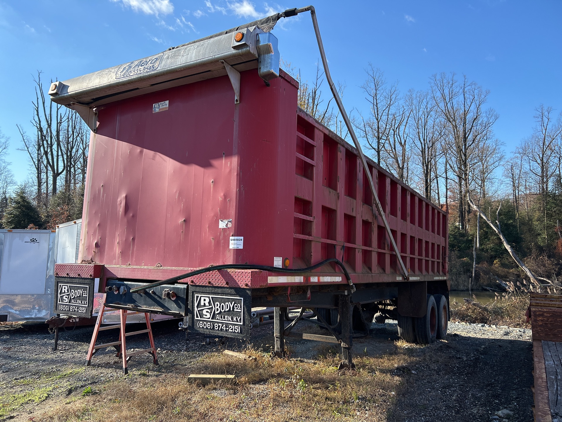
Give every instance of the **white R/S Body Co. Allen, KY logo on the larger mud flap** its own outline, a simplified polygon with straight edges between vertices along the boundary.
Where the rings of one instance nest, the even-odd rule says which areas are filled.
[[[196,294],[195,319],[243,325],[244,299],[236,296]]]

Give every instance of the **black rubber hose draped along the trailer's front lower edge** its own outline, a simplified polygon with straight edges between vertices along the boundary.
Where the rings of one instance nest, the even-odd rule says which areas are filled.
[[[319,262],[318,264],[315,264],[311,267],[306,267],[306,268],[278,268],[278,267],[270,267],[268,265],[256,265],[256,264],[221,264],[221,265],[215,265],[215,266],[212,266],[212,267],[205,267],[205,268],[200,268],[199,270],[186,272],[185,274],[175,276],[175,277],[171,277],[170,279],[166,279],[166,280],[162,280],[162,281],[157,281],[155,283],[147,284],[147,285],[144,285],[142,287],[137,287],[137,288],[131,289],[130,292],[131,293],[137,293],[141,290],[152,289],[153,287],[161,286],[162,284],[175,283],[176,281],[188,279],[189,277],[197,276],[197,275],[200,275],[200,274],[203,274],[203,273],[206,273],[206,272],[211,272],[211,271],[219,271],[219,270],[261,270],[261,271],[269,271],[269,272],[283,272],[283,273],[301,274],[303,272],[309,272],[309,271],[312,271],[312,270],[316,270],[316,268],[320,268],[321,266],[323,266],[325,264],[328,264],[330,262],[335,262],[339,266],[339,268],[342,269],[343,274],[345,275],[348,284],[351,285],[352,290],[355,290],[355,286],[353,286],[353,283],[351,282],[351,277],[350,277],[349,273],[347,272],[346,267],[343,265],[343,262],[339,261],[339,259],[337,259],[337,258],[329,258],[329,259],[324,259],[324,261]]]

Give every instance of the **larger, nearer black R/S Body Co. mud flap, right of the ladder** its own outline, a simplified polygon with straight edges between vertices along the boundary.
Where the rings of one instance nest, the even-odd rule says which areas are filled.
[[[189,331],[250,339],[250,289],[189,286]]]

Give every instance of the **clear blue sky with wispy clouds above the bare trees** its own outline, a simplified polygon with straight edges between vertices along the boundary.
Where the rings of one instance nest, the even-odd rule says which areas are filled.
[[[285,1],[285,0],[283,0]],[[308,3],[248,0],[0,0],[0,129],[10,136],[16,179],[28,174],[16,124],[31,129],[33,74],[64,80],[140,59],[193,39]],[[441,71],[466,74],[490,89],[500,115],[496,136],[507,154],[533,127],[540,104],[562,109],[562,2],[332,1],[314,4],[334,79],[346,84],[347,110],[366,109],[366,65],[425,89]],[[279,50],[314,77],[318,47],[309,14],[273,33]],[[325,87],[325,95],[329,89]]]

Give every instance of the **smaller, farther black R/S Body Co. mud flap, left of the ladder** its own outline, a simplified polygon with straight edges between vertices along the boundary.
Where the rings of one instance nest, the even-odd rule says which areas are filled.
[[[92,317],[94,279],[55,277],[55,313],[76,317]]]

